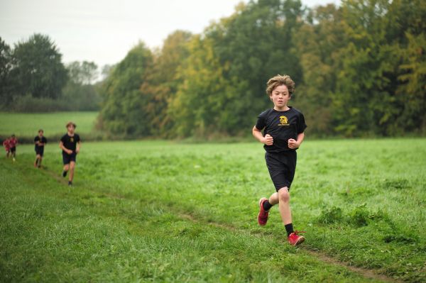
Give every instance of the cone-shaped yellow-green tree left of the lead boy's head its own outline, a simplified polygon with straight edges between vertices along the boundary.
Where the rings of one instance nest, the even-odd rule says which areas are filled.
[[[175,121],[173,133],[180,137],[226,133],[222,127],[234,118],[233,113],[224,111],[226,102],[234,94],[226,91],[231,87],[224,79],[227,66],[221,65],[214,55],[212,40],[196,35],[189,48],[191,55],[180,68],[182,84],[168,109],[168,116]]]

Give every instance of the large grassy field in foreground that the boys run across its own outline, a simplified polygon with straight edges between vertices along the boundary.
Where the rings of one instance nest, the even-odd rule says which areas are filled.
[[[286,243],[258,143],[83,143],[0,160],[1,282],[426,282],[426,140],[307,140]]]

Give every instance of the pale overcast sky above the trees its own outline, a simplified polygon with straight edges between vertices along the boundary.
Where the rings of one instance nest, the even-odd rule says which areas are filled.
[[[0,0],[0,37],[9,45],[47,34],[65,63],[115,64],[139,40],[161,46],[174,30],[201,33],[241,0]],[[247,2],[245,0],[244,2]],[[307,6],[339,0],[302,0]]]

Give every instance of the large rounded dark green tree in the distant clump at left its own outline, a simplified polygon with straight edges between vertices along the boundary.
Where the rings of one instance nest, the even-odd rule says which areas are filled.
[[[35,98],[60,97],[67,82],[62,55],[48,35],[35,33],[15,45],[12,52],[13,94]]]

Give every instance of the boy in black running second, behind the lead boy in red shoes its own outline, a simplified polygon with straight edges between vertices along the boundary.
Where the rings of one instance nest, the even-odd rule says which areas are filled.
[[[62,149],[62,160],[64,162],[64,170],[62,177],[67,176],[67,172],[70,171],[70,177],[68,178],[68,186],[72,186],[72,179],[74,178],[75,159],[77,153],[80,152],[80,135],[74,133],[77,126],[75,123],[67,123],[67,133],[60,138],[59,147]]]

